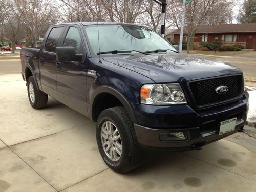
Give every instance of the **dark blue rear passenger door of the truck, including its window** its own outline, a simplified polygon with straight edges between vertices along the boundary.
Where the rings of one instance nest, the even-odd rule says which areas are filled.
[[[39,55],[42,90],[52,97],[56,97],[57,93],[56,47],[60,43],[64,28],[64,26],[56,26],[50,30],[45,46]]]

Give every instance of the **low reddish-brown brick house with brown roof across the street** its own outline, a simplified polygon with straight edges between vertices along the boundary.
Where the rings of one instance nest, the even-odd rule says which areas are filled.
[[[183,41],[187,40],[186,29]],[[168,34],[174,41],[180,40],[180,29]],[[202,25],[194,38],[194,46],[198,48],[201,41],[221,41],[222,45],[243,45],[245,49],[256,49],[256,23]]]

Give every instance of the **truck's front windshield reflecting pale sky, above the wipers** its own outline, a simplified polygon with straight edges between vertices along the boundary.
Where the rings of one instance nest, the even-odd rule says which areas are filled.
[[[151,52],[166,49],[161,54],[175,53],[177,50],[162,38],[154,30],[135,25],[88,25],[84,26],[87,38],[94,57],[99,52],[111,52],[113,50],[136,50]],[[98,33],[99,30],[99,33]],[[99,34],[99,36],[98,36]],[[99,40],[98,40],[99,37]],[[119,53],[122,55],[140,54],[136,51],[131,53]],[[174,52],[175,51],[175,52]],[[156,53],[156,52],[155,52]],[[108,55],[108,54],[107,54]],[[112,53],[109,53],[112,55]]]

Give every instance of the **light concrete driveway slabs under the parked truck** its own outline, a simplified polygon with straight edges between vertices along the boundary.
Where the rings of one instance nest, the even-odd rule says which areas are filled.
[[[0,192],[256,190],[255,151],[230,139],[146,151],[141,167],[121,175],[102,161],[90,119],[50,97],[32,109],[20,74],[0,75],[0,90]]]

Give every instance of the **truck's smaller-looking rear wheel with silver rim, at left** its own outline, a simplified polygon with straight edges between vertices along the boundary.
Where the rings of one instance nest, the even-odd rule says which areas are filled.
[[[33,76],[30,76],[28,79],[27,89],[31,106],[34,109],[45,108],[48,101],[48,95],[37,89]]]

